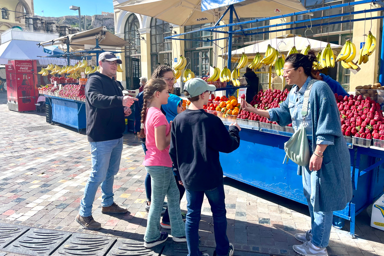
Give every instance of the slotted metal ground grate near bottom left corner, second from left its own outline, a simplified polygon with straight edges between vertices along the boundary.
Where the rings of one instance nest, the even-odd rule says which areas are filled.
[[[5,251],[27,255],[50,255],[72,233],[31,228],[3,248]]]

